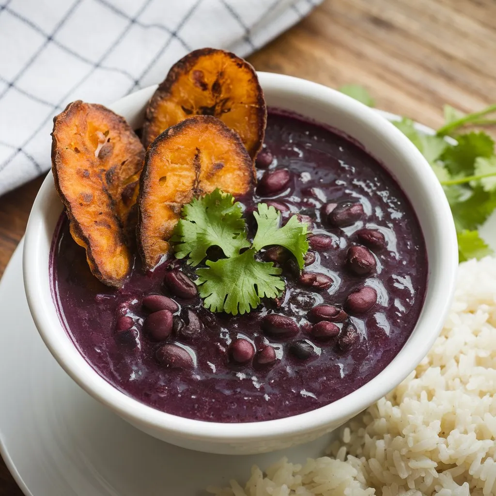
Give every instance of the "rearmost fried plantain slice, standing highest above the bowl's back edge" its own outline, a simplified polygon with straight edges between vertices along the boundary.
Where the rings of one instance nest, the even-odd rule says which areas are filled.
[[[143,144],[192,115],[218,117],[235,130],[252,159],[260,150],[267,109],[253,67],[230,52],[203,48],[176,62],[146,109]]]

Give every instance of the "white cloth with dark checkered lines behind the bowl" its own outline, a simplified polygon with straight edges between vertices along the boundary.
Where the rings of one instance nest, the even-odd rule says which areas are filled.
[[[205,46],[244,57],[321,0],[0,0],[0,195],[50,168],[54,115],[161,81]]]

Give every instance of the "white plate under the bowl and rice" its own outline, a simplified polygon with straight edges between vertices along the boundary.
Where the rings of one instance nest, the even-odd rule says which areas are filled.
[[[397,119],[383,113],[389,119]],[[432,132],[419,125],[419,130]],[[484,228],[496,247],[496,215]],[[178,448],[134,429],[80,389],[43,344],[22,283],[22,243],[0,281],[0,452],[29,496],[196,496],[249,467],[316,457],[329,435],[252,456]]]

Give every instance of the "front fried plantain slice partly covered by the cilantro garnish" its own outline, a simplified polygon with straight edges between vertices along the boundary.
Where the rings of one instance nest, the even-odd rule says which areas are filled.
[[[151,269],[169,251],[181,209],[216,187],[233,195],[254,184],[239,135],[219,119],[195,116],[166,129],[148,147],[138,196],[138,247]]]

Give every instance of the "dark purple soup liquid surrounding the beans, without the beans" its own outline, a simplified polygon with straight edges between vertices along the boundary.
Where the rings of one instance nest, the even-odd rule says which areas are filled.
[[[175,298],[183,308],[196,311],[205,324],[194,341],[169,338],[194,354],[192,371],[164,369],[155,357],[161,343],[151,341],[142,330],[147,312],[141,300],[150,293],[167,294],[162,286],[166,266],[145,274],[136,259],[124,287],[108,288],[90,273],[84,250],[70,237],[62,215],[51,263],[61,320],[95,371],[153,408],[212,422],[253,422],[307,412],[371,380],[399,352],[417,322],[427,284],[426,248],[416,215],[391,176],[356,144],[297,117],[269,113],[265,144],[275,157],[270,168],[293,172],[289,189],[275,199],[284,201],[292,213],[310,215],[315,219],[313,232],[336,242],[336,248],[316,253],[315,263],[307,269],[331,275],[335,282],[328,291],[312,291],[285,270],[288,292],[280,309],[268,302],[235,317],[212,314],[198,298],[187,302]],[[258,171],[259,178],[263,172]],[[242,201],[250,208],[263,199],[254,194]],[[343,229],[320,222],[323,203],[350,199],[364,205],[364,221]],[[387,241],[387,248],[376,251],[377,271],[370,276],[353,275],[345,263],[348,248],[356,243],[354,233],[363,227],[380,230]],[[267,337],[260,330],[260,319],[272,311],[294,317],[305,327],[305,302],[310,301],[310,308],[320,303],[341,306],[364,282],[377,290],[378,301],[372,310],[350,315],[361,340],[346,352],[339,350],[335,340],[318,341],[303,329],[287,339]],[[123,315],[131,316],[135,327],[119,333],[116,320]],[[275,365],[234,364],[226,350],[237,337],[257,346],[272,345],[278,357]],[[290,344],[301,339],[312,343],[316,353],[307,360],[289,351]]]

